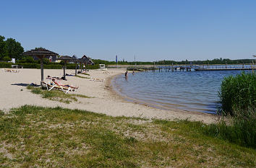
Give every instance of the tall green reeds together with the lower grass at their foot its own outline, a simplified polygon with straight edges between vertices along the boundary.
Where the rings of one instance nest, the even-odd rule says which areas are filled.
[[[222,117],[205,133],[256,149],[256,74],[226,77],[219,96]]]

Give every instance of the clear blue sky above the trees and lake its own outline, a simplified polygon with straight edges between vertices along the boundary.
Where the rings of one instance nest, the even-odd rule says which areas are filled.
[[[256,1],[1,1],[0,35],[25,50],[114,61],[252,58]]]

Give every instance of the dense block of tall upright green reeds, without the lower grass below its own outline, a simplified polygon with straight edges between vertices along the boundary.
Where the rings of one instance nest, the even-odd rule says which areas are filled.
[[[254,109],[256,105],[256,74],[242,73],[226,77],[219,92],[221,112],[234,115],[234,110]]]

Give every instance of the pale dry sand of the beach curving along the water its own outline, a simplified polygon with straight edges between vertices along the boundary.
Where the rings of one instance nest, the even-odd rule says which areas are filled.
[[[33,94],[26,89],[27,84],[40,84],[40,69],[20,69],[19,73],[0,71],[0,110],[9,110],[12,107],[22,105],[39,105],[43,107],[66,107],[70,109],[88,110],[112,116],[127,116],[140,118],[158,118],[166,120],[189,119],[212,123],[213,115],[201,112],[187,112],[182,110],[161,110],[147,105],[127,102],[117,95],[111,88],[111,79],[124,74],[124,69],[108,69],[107,71],[90,70],[88,74],[92,79],[105,79],[104,81],[92,81],[76,76],[67,76],[67,83],[78,86],[75,94],[84,94],[93,98],[79,98],[78,102],[65,104],[53,100],[47,100],[38,94]],[[74,74],[74,70],[66,70],[67,74]],[[59,76],[61,69],[45,69],[44,76]],[[22,90],[22,91],[21,91]]]

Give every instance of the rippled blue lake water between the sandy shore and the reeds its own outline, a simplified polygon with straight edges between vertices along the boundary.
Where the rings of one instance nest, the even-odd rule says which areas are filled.
[[[224,76],[241,71],[141,72],[117,76],[114,89],[127,100],[159,107],[215,113]]]

